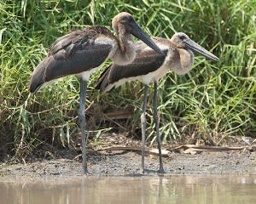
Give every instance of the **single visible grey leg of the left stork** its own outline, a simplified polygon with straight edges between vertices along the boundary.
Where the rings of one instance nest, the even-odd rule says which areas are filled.
[[[82,133],[82,158],[84,174],[88,173],[86,162],[86,132],[85,132],[85,99],[86,99],[87,81],[81,78],[80,81],[80,99],[79,99],[79,123]]]

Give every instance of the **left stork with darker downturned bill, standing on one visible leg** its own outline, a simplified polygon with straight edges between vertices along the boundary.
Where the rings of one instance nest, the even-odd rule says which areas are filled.
[[[60,77],[80,77],[79,125],[82,135],[82,160],[84,174],[88,173],[85,141],[85,97],[90,75],[110,58],[117,65],[128,65],[136,57],[137,37],[157,53],[163,54],[153,40],[137,25],[134,17],[121,12],[113,17],[113,31],[105,26],[87,26],[84,30],[71,31],[52,43],[48,55],[32,72],[28,84],[30,93],[36,93],[49,82]]]

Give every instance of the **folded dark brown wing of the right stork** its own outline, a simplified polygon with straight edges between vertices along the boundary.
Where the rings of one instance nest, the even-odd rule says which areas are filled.
[[[141,47],[142,48],[142,47]],[[136,59],[129,65],[110,65],[102,72],[96,83],[96,89],[105,91],[108,86],[112,86],[115,82],[128,82],[136,77],[147,75],[156,71],[165,62],[166,56],[157,54],[152,49],[138,49]],[[167,49],[163,50],[166,54]]]

